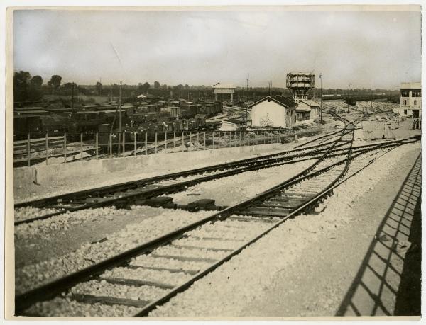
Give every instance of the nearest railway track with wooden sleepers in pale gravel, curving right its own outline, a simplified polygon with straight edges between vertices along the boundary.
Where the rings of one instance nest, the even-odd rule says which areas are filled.
[[[352,130],[339,141],[353,136]],[[84,306],[92,316],[101,309],[106,314],[100,316],[110,309],[119,313],[112,316],[147,316],[286,219],[317,205],[379,154],[414,140],[357,149],[350,142],[339,152],[329,147],[305,171],[254,198],[18,295],[16,314],[67,314]]]

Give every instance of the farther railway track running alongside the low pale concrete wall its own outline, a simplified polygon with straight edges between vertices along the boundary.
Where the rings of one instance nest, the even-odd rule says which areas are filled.
[[[251,159],[243,159],[228,164],[218,164],[201,169],[171,173],[165,176],[145,178],[143,180],[120,183],[113,186],[104,186],[102,188],[82,190],[75,193],[55,195],[50,198],[19,203],[15,205],[16,220],[14,224],[17,226],[18,224],[61,215],[65,212],[74,212],[94,207],[104,207],[108,205],[124,207],[129,204],[140,204],[143,200],[158,197],[163,194],[176,193],[180,190],[184,190],[188,186],[193,186],[204,181],[210,181],[212,179],[231,176],[246,171],[265,169],[280,164],[294,164],[298,161],[317,159],[318,155],[323,154],[329,147],[332,146],[333,149],[338,149],[345,145],[347,145],[347,142],[341,142],[339,144],[335,142],[326,142],[316,146],[293,149]],[[147,202],[143,203],[147,204]],[[158,201],[156,201],[155,205],[158,205]],[[167,207],[170,207],[170,205],[167,205]],[[33,214],[32,217],[19,217],[22,213],[25,214],[28,209],[31,209],[31,214]]]

